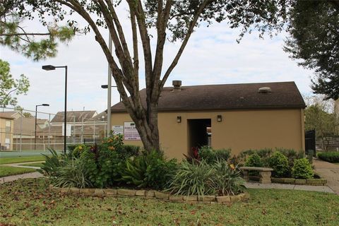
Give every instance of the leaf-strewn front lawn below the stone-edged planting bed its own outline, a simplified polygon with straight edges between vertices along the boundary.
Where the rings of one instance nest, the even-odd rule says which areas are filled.
[[[339,196],[250,189],[248,203],[167,203],[56,194],[47,179],[0,184],[0,225],[339,225]]]

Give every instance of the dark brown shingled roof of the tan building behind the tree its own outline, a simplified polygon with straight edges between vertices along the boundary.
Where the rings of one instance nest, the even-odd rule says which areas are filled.
[[[180,82],[181,83],[181,82]],[[146,90],[140,91],[145,105]],[[291,109],[306,107],[295,82],[242,83],[165,87],[158,110]],[[112,112],[126,112],[122,102]]]

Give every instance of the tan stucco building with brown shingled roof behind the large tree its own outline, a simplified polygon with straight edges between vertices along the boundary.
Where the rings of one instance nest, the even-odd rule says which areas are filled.
[[[160,145],[167,157],[178,159],[192,147],[208,144],[231,148],[232,155],[258,148],[304,150],[304,107],[294,82],[164,88],[158,114]],[[131,135],[130,123],[124,105],[114,105],[112,127],[124,128],[126,144],[142,145],[133,141],[138,136]]]

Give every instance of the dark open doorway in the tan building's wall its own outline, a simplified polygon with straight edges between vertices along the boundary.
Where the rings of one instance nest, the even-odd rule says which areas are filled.
[[[210,127],[210,119],[188,119],[189,131],[189,153],[192,148],[200,148],[203,145],[208,145],[207,128]]]

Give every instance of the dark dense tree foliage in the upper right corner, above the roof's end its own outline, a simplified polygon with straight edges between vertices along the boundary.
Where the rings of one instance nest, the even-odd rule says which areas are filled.
[[[339,97],[339,1],[293,1],[285,51],[313,69],[311,88],[326,99]]]

